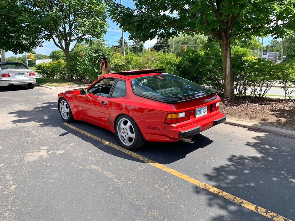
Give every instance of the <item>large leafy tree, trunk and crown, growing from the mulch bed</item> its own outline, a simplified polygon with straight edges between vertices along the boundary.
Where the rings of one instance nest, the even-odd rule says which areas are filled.
[[[263,33],[280,37],[294,30],[293,0],[159,0],[157,4],[137,0],[134,9],[111,0],[108,4],[112,20],[130,33],[130,39],[146,41],[180,33],[211,35],[221,48],[225,97],[234,95],[232,37]]]

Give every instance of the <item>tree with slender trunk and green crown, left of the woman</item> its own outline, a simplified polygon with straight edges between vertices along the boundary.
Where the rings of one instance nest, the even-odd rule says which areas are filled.
[[[70,80],[70,52],[75,45],[92,37],[101,38],[106,33],[104,4],[100,0],[22,1],[37,14],[35,21],[43,27],[44,39],[52,40],[65,53]]]

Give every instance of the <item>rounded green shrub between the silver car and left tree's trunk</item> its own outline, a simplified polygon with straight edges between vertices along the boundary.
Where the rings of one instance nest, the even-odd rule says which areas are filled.
[[[42,78],[67,79],[67,64],[63,60],[41,63],[36,66],[36,71]]]

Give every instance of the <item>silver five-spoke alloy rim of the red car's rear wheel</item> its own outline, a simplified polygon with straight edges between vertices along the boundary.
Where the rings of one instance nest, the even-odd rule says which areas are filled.
[[[135,133],[132,123],[126,119],[122,118],[117,124],[117,133],[120,141],[126,145],[131,146],[135,139]]]

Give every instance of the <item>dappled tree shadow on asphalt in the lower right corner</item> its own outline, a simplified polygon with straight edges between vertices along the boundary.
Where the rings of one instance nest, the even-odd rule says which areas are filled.
[[[246,142],[258,156],[231,155],[228,163],[215,167],[205,176],[216,188],[294,220],[294,141],[262,133],[255,137],[254,142]],[[232,202],[199,187],[195,187],[195,192],[208,195],[209,206],[218,205],[225,211],[231,211],[230,216],[218,216],[214,220],[235,220],[234,214],[245,210],[241,206],[233,207],[235,204]],[[259,220],[262,219],[263,216]]]

